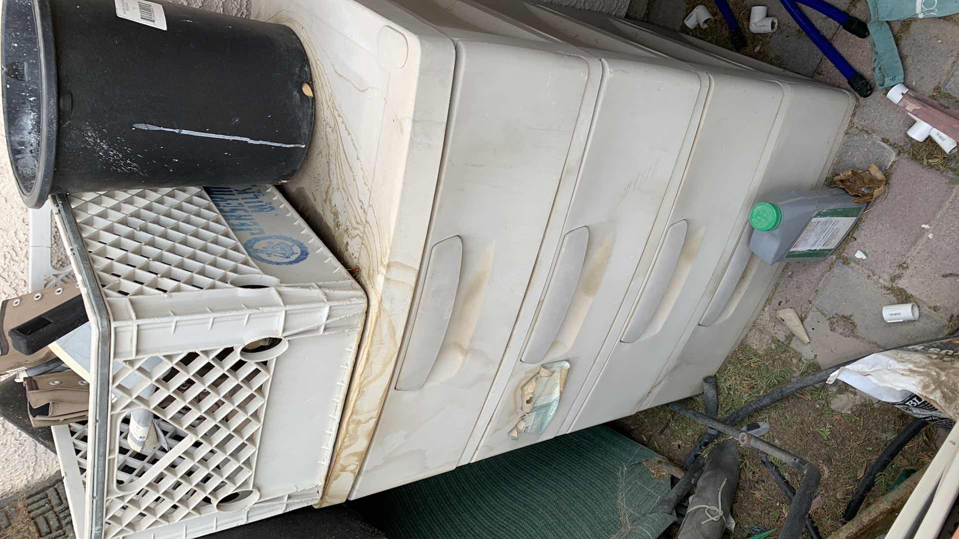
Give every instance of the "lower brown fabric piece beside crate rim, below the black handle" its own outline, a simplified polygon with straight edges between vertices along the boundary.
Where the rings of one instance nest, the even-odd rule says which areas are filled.
[[[65,425],[86,419],[89,385],[68,370],[25,378],[30,422],[34,427]]]

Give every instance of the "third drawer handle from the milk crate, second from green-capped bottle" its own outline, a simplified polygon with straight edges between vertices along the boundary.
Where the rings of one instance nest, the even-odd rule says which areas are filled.
[[[683,246],[686,244],[686,232],[689,225],[686,220],[673,223],[666,231],[666,238],[663,240],[663,246],[660,248],[656,261],[653,262],[653,269],[640,295],[640,300],[633,310],[633,316],[626,324],[626,331],[622,336],[623,342],[636,342],[643,335],[649,320],[656,314],[656,308],[663,301],[666,294],[669,281],[672,280],[676,266],[679,264],[679,256],[683,253]]]

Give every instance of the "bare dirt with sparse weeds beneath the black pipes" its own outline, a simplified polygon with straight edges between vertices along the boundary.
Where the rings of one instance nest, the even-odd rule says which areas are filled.
[[[773,340],[764,350],[740,345],[716,374],[719,417],[725,417],[774,387],[818,370],[817,363],[804,361],[798,352],[780,340]],[[856,404],[850,413],[841,413],[830,407],[834,399]],[[700,397],[681,404],[703,410]],[[812,517],[825,537],[842,526],[842,513],[866,468],[912,419],[888,404],[836,382],[832,386],[809,387],[760,410],[748,421],[768,422],[772,430],[764,439],[821,466],[823,479],[813,501]],[[705,432],[690,419],[663,407],[624,417],[613,426],[674,463],[681,463]],[[922,468],[935,454],[936,436],[934,427],[927,427],[916,436],[877,477],[876,486],[863,507],[885,494],[898,479]],[[760,454],[751,448],[741,448],[741,452],[742,468],[733,506],[737,523],[733,536],[737,538],[781,527],[789,508],[782,490],[763,467]],[[802,475],[798,471],[782,466],[781,469],[793,487],[799,485]]]

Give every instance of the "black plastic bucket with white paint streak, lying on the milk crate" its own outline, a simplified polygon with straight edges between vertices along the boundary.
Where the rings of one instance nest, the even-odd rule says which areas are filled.
[[[285,26],[167,2],[5,0],[2,41],[7,147],[30,207],[277,183],[306,155],[310,66]]]

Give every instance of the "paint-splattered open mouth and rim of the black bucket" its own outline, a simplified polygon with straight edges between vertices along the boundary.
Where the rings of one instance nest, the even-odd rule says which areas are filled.
[[[57,149],[57,75],[50,5],[4,2],[3,112],[20,197],[39,208],[50,194]]]

